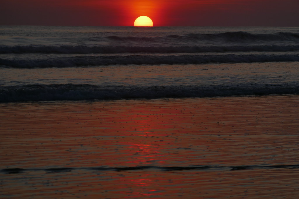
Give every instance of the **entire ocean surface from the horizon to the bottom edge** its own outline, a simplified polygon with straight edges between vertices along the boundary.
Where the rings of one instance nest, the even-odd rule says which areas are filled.
[[[298,198],[299,27],[0,26],[0,198]]]

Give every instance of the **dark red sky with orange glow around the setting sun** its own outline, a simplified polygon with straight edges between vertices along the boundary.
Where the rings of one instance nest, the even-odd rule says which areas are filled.
[[[0,25],[299,26],[299,0],[0,0]]]

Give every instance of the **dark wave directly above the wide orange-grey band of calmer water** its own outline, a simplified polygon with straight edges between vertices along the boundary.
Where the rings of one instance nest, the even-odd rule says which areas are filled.
[[[106,65],[155,65],[155,64],[208,64],[208,63],[252,63],[272,61],[299,61],[293,55],[132,55],[132,56],[77,56],[49,59],[1,59],[0,67],[47,68],[84,67]]]

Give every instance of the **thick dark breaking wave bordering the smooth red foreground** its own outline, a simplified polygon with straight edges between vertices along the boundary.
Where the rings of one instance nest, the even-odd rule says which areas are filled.
[[[101,87],[51,84],[0,87],[0,102],[298,94],[298,84]]]

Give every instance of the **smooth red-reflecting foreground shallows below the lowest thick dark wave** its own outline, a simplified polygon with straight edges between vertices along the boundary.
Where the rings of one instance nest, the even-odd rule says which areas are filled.
[[[299,96],[0,104],[0,198],[298,198]]]

